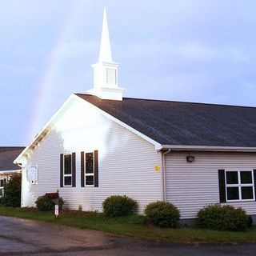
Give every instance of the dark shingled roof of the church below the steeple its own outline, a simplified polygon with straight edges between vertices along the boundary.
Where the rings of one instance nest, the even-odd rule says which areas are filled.
[[[256,108],[76,94],[162,145],[256,147]]]

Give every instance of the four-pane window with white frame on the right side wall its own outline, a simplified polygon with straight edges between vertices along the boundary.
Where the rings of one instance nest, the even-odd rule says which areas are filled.
[[[226,171],[226,201],[255,199],[254,175],[251,170]]]

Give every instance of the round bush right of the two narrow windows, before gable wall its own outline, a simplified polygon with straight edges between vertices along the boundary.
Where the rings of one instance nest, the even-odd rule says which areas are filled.
[[[137,202],[126,195],[112,195],[102,203],[103,212],[107,217],[118,217],[134,214],[137,210]]]

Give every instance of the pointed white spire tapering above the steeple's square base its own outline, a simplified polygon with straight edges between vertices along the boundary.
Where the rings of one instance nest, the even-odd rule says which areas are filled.
[[[98,62],[113,62],[110,46],[110,32],[107,25],[106,7],[104,8],[103,14],[102,40],[101,48],[99,50]]]

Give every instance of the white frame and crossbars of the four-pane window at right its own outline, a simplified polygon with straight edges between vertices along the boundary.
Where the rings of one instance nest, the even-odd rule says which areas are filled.
[[[233,171],[238,173],[238,184],[227,184],[226,183],[226,173],[227,172],[233,172]],[[241,172],[243,172],[243,171],[250,171],[252,183],[246,183],[246,184],[241,183]],[[254,196],[254,198],[242,199],[242,187],[245,187],[245,186],[252,186],[253,187],[253,196]],[[227,199],[227,188],[228,187],[238,187],[239,199],[234,199],[234,200],[228,200]],[[255,201],[254,171],[253,170],[225,170],[225,189],[226,189],[226,202],[251,202],[251,201]]]

